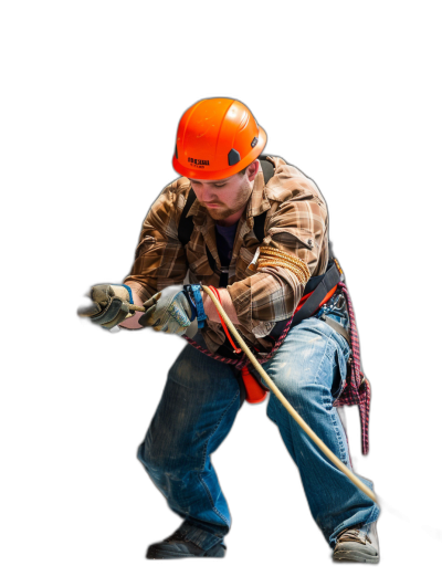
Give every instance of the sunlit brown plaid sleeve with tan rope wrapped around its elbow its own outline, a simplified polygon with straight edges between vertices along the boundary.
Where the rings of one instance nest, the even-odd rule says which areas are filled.
[[[328,263],[328,217],[324,199],[299,190],[272,214],[263,245],[295,255],[311,276]],[[276,322],[288,319],[299,303],[305,284],[285,268],[263,268],[228,286],[241,325],[256,337],[269,334]]]

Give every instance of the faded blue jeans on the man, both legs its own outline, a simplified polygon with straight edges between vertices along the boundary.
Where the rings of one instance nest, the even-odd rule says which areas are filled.
[[[351,468],[345,431],[333,407],[349,354],[341,335],[311,317],[292,328],[263,368],[318,437]],[[229,505],[211,454],[229,436],[240,407],[232,368],[186,345],[168,371],[138,448],[150,479],[181,518],[181,530],[203,549],[223,541],[230,531]],[[266,413],[298,469],[312,517],[330,548],[346,527],[379,517],[378,505],[328,461],[272,392]],[[372,489],[370,481],[360,479]]]

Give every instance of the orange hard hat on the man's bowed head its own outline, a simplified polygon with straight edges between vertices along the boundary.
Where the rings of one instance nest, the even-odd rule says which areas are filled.
[[[223,179],[253,163],[266,140],[238,99],[201,99],[178,123],[172,166],[190,179]]]

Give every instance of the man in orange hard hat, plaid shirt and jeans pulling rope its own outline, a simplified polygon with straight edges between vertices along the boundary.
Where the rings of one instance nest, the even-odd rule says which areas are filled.
[[[229,436],[244,388],[232,367],[238,355],[200,284],[218,290],[224,311],[282,394],[351,468],[334,406],[352,358],[343,286],[336,282],[320,306],[291,323],[334,265],[327,207],[298,169],[263,156],[265,143],[264,130],[238,101],[191,106],[179,122],[173,149],[181,177],[150,208],[130,275],[123,284],[92,287],[77,311],[112,331],[151,327],[192,343],[169,369],[138,449],[181,520],[176,532],[148,546],[148,560],[223,558],[227,552],[231,517],[211,454]],[[134,313],[137,305],[146,313]],[[299,471],[333,562],[378,564],[379,507],[324,458],[272,395],[266,410]]]

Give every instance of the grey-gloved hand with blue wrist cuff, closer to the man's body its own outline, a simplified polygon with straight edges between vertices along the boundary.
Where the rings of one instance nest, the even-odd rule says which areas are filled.
[[[193,336],[198,331],[196,311],[182,291],[182,287],[166,287],[144,303],[147,312],[139,317],[141,326],[152,328],[157,333]],[[194,324],[197,327],[194,328]],[[191,335],[189,327],[192,325]]]

